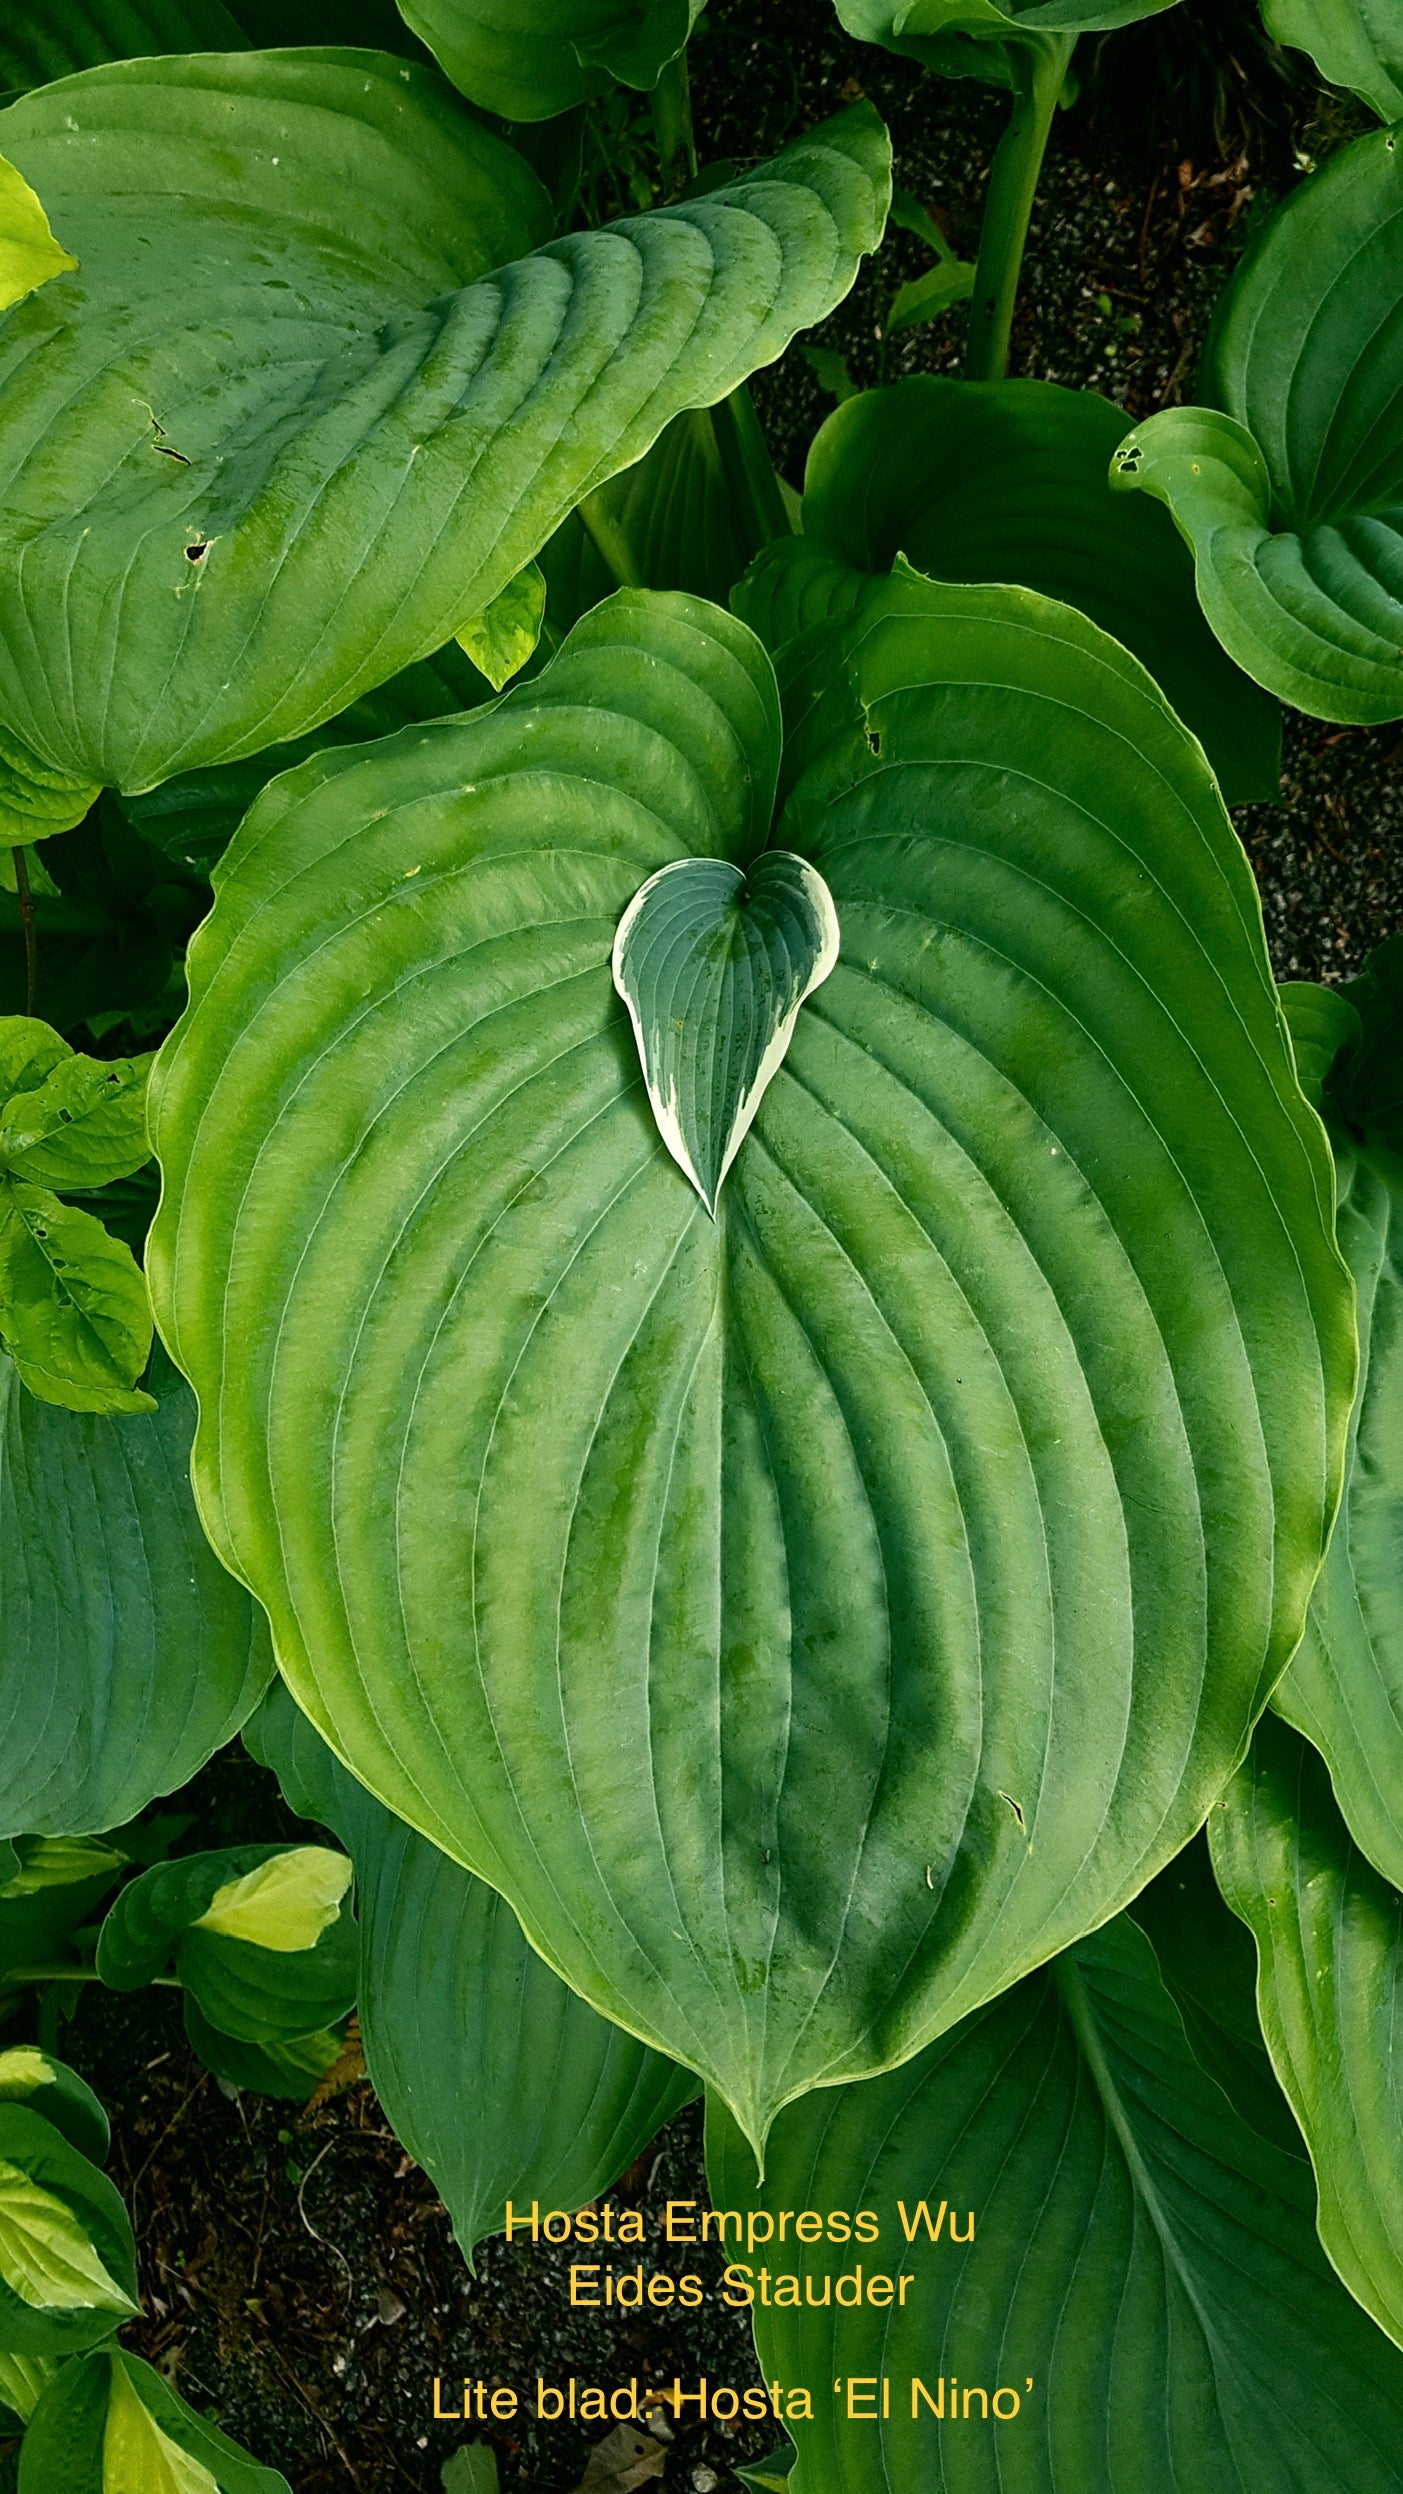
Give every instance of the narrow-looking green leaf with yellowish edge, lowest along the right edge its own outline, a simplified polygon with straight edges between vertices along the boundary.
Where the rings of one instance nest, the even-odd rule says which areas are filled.
[[[1356,1853],[1316,1751],[1273,1716],[1209,1828],[1258,1945],[1261,2025],[1316,2167],[1321,2242],[1403,2344],[1403,1895]]]

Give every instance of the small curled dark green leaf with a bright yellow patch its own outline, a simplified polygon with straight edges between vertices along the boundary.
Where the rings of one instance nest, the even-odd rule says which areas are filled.
[[[307,1948],[269,1948],[239,1933],[204,1928],[202,1920],[219,1893],[242,1883],[249,1871],[264,1871],[289,1853],[307,1851],[321,1848],[232,1846],[224,1853],[182,1853],[177,1861],[157,1863],[122,1888],[110,1908],[97,1940],[97,1973],[112,1990],[140,1990],[174,1958],[179,1980],[209,2025],[239,2043],[282,2045],[339,2025],[356,2000],[349,1863],[334,1858],[336,1868],[319,1866],[312,1895],[307,1895],[312,1885],[307,1866],[294,1868],[307,1928],[319,1923],[319,1935]],[[334,1890],[336,1913],[321,1923]],[[257,1900],[252,1923],[262,1925]],[[277,1883],[269,1923],[284,1935]]]

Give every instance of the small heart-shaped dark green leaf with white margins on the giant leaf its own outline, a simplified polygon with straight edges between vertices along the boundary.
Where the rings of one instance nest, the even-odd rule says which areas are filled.
[[[675,858],[618,920],[613,985],[658,1132],[713,1217],[800,1005],[837,963],[837,940],[817,865],[782,848],[745,873],[728,858]]]

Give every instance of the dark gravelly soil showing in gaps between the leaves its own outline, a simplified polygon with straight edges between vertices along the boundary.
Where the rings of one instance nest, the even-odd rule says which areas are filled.
[[[1131,419],[1191,397],[1211,307],[1253,229],[1303,162],[1358,127],[1256,32],[1256,7],[1186,0],[1087,62],[1052,142],[1027,259],[1014,372],[1099,389]],[[897,140],[897,180],[974,249],[982,180],[1004,105],[847,42],[830,0],[710,0],[695,42],[703,155],[758,160],[867,92]],[[962,312],[887,342],[885,314],[930,254],[892,232],[820,344],[860,384],[959,364]],[[755,382],[775,454],[802,481],[830,412],[802,349]],[[1239,828],[1281,978],[1343,978],[1403,925],[1403,728],[1288,718],[1281,806]],[[284,1833],[252,1763],[202,1786],[189,1841]],[[434,2377],[533,2394],[536,2377],[613,2387],[755,2379],[745,2327],[708,2297],[683,2327],[650,2314],[571,2314],[568,2252],[493,2242],[468,2277],[426,2177],[359,2082],[314,2112],[229,2097],[192,2060],[172,1993],[82,1998],[65,2050],[115,2120],[112,2172],[142,2242],[150,2319],[130,2334],[182,2392],[297,2494],[436,2494],[451,2449],[481,2427],[434,2422]],[[678,2117],[616,2200],[703,2197],[700,2117]],[[693,2255],[688,2255],[693,2265]],[[531,2397],[523,2397],[523,2409]],[[493,2427],[501,2479],[523,2494],[578,2487],[603,2427]],[[668,2489],[735,2489],[733,2462],[778,2439],[683,2424]],[[0,2477],[2,2482],[2,2477]],[[912,2489],[915,2494],[915,2489]]]

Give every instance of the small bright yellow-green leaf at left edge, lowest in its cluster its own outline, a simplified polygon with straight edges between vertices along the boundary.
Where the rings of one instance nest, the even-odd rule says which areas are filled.
[[[17,1177],[0,1177],[0,1344],[40,1402],[155,1412],[137,1389],[152,1312],[132,1249],[92,1212]]]

